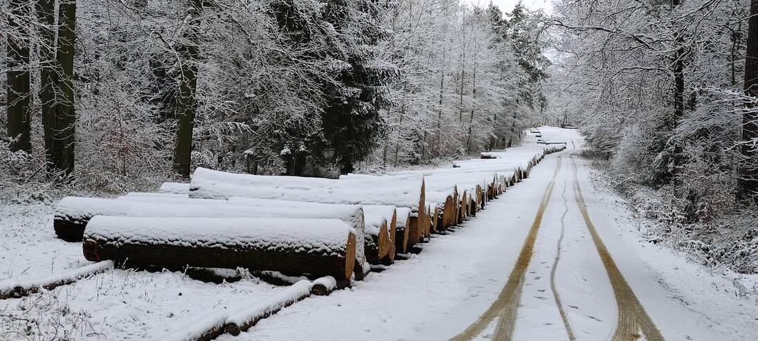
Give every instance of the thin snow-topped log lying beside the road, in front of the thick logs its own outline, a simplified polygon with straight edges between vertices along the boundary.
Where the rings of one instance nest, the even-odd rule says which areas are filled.
[[[276,314],[277,311],[289,307],[301,299],[305,299],[311,295],[311,286],[312,283],[308,280],[301,280],[268,299],[256,302],[249,308],[230,315],[227,318],[227,333],[234,336],[240,335],[243,331],[255,326],[258,321],[268,318],[271,314]]]

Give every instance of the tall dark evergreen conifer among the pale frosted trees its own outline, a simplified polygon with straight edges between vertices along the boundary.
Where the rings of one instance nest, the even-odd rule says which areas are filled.
[[[332,153],[340,174],[352,172],[354,164],[376,147],[384,127],[380,109],[389,104],[384,94],[393,74],[372,64],[377,42],[387,38],[376,21],[377,11],[370,0],[329,0],[324,8],[324,19],[342,40],[329,57],[345,66],[336,83],[324,84],[321,115],[324,149]]]

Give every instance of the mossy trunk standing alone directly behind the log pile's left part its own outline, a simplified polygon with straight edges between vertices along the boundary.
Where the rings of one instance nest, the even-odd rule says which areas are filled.
[[[193,129],[195,126],[195,92],[197,89],[197,46],[199,20],[202,2],[189,0],[186,14],[186,28],[183,45],[177,48],[180,58],[179,93],[177,94],[177,135],[174,145],[174,171],[182,177],[189,177],[192,155]]]

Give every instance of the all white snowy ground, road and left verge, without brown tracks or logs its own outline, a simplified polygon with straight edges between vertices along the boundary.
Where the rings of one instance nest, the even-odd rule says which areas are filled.
[[[450,339],[496,301],[553,174],[553,193],[525,272],[515,339],[568,339],[554,292],[577,339],[609,339],[618,308],[575,201],[572,158],[591,221],[666,339],[758,339],[756,302],[735,295],[730,280],[643,242],[621,199],[590,183],[587,164],[574,154],[581,149],[578,133],[553,133],[564,134],[568,149],[548,155],[528,179],[475,219],[434,234],[420,244],[420,253],[369,274],[350,289],[311,296],[240,336],[220,339]],[[80,244],[55,239],[51,226],[49,206],[0,207],[0,279],[42,277],[89,264]],[[150,339],[208,311],[240,311],[282,290],[255,277],[217,285],[179,272],[117,269],[26,298],[0,300],[0,339]],[[490,339],[496,323],[477,339]]]

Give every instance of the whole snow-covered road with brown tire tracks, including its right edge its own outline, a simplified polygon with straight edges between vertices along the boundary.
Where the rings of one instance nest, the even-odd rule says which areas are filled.
[[[642,242],[619,199],[590,183],[581,137],[563,132],[568,149],[476,219],[352,289],[305,299],[237,339],[437,340],[467,328],[462,339],[758,339],[754,302]],[[530,233],[533,249],[524,252]]]

